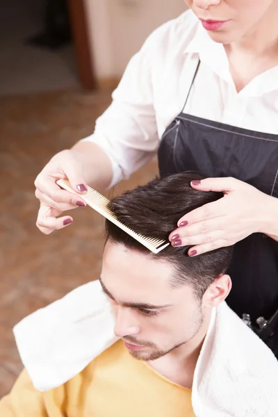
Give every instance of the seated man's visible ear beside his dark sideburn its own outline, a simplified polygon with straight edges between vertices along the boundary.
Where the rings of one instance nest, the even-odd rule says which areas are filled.
[[[231,278],[227,274],[220,275],[204,293],[202,304],[204,306],[216,307],[227,298],[230,291]]]

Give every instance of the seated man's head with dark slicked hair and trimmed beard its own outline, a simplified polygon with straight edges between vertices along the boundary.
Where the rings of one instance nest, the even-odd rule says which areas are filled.
[[[167,240],[184,214],[222,197],[194,190],[194,179],[202,177],[154,179],[113,199],[111,211],[139,234]],[[153,254],[109,221],[106,237],[101,285],[115,313],[115,334],[137,346],[127,345],[133,356],[154,360],[193,341],[230,291],[231,247],[193,258],[189,247],[171,245]]]

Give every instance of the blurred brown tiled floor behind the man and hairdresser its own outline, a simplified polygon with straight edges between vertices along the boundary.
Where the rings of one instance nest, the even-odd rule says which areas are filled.
[[[22,369],[13,325],[99,276],[102,218],[77,208],[74,224],[44,236],[35,227],[33,181],[51,156],[93,131],[109,101],[110,92],[0,97],[0,398]],[[153,161],[116,193],[147,182],[156,169]]]

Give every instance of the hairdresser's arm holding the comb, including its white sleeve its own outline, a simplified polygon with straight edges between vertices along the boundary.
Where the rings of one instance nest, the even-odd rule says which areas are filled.
[[[157,42],[156,35],[151,35],[133,56],[94,134],[54,156],[35,180],[40,200],[37,226],[44,234],[72,222],[71,216],[59,216],[84,205],[81,197],[86,184],[102,191],[128,178],[156,153],[152,65]],[[60,178],[68,178],[80,197],[60,190],[56,185]]]

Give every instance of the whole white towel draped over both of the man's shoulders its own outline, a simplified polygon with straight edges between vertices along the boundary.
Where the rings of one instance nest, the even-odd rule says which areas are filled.
[[[117,338],[99,281],[24,318],[14,328],[33,384],[47,391],[81,372]],[[224,302],[211,318],[193,380],[196,417],[278,417],[278,361]]]

